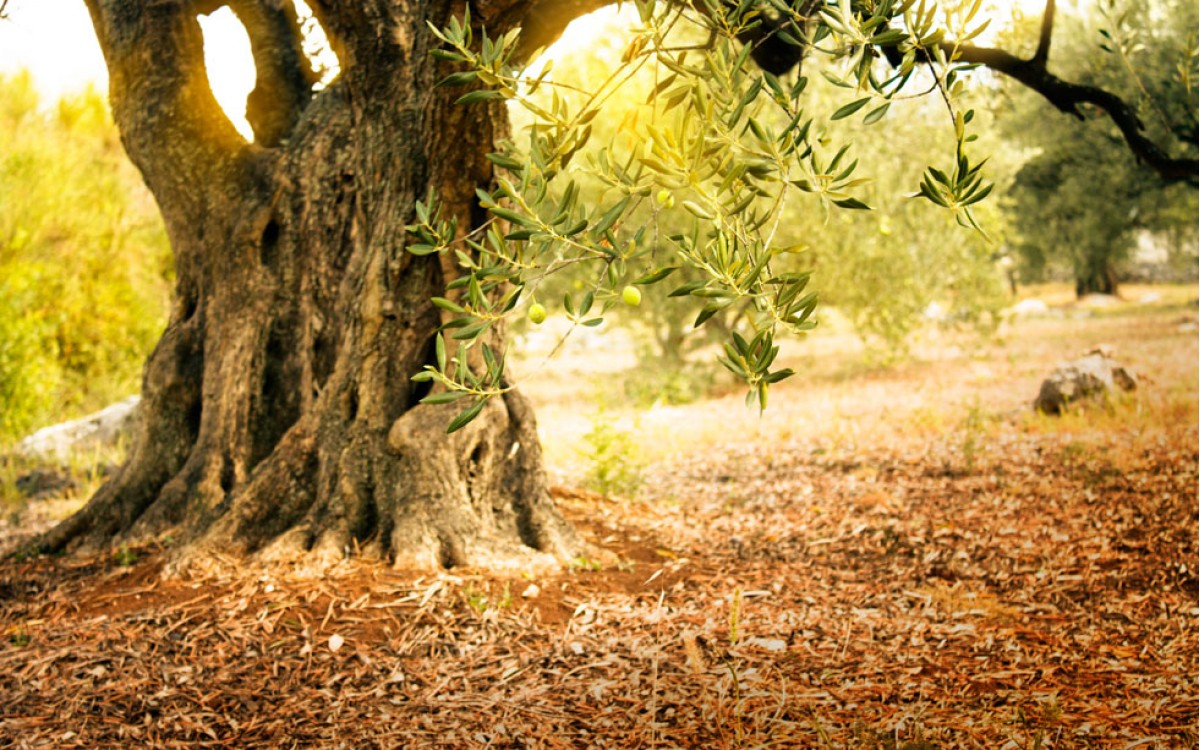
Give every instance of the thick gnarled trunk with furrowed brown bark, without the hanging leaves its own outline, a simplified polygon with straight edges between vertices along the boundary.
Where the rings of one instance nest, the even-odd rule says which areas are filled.
[[[292,2],[229,5],[258,61],[252,144],[209,90],[198,4],[89,0],[178,280],[128,461],[42,547],[169,536],[180,559],[353,553],[406,566],[577,554],[526,401],[493,400],[448,437],[454,407],[419,404],[409,379],[431,361],[442,318],[430,298],[455,269],[407,253],[404,226],[431,188],[463,230],[478,226],[474,191],[490,186],[485,155],[506,128],[502,106],[455,107],[457,92],[434,89],[446,71],[426,22],[463,8],[314,4],[342,65],[314,94]],[[480,5],[521,20],[517,4]]]

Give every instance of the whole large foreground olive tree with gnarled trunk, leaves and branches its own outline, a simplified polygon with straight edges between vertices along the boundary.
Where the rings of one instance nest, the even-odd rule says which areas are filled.
[[[979,2],[638,0],[625,67],[661,67],[653,118],[593,164],[572,155],[619,72],[535,112],[527,161],[506,146],[505,103],[553,84],[527,62],[607,0],[312,1],[341,67],[324,88],[290,0],[85,2],[176,287],[127,463],[44,550],[170,534],[185,558],[576,554],[534,415],[505,374],[504,317],[564,264],[595,269],[593,288],[563,302],[580,325],[691,268],[701,278],[673,293],[701,302],[697,324],[734,302],[752,311],[725,365],[764,404],[791,374],[774,366],[776,330],[811,324],[815,305],[803,275],[773,265],[787,251],[773,236],[780,204],[865,209],[852,151],[869,144],[839,143],[838,121],[886,124],[894,97],[928,91],[947,106],[947,156],[913,188],[974,223],[989,186],[955,97],[977,65],[1061,109],[1104,108],[1151,167],[1195,176],[1195,161],[1158,149],[1123,102],[1046,70],[1052,1],[1038,52],[1021,60],[971,46]],[[197,16],[221,6],[251,40],[253,142],[205,74]],[[704,41],[676,48],[680,24]],[[828,116],[804,107],[812,54],[841,60],[847,98]],[[576,200],[584,168],[610,182],[600,205]],[[671,206],[691,229],[652,241]]]

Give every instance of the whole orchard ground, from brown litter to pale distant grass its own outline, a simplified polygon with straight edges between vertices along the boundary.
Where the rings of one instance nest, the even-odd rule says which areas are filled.
[[[1022,294],[886,368],[826,325],[761,416],[634,408],[620,349],[520,360],[595,550],[557,575],[5,562],[0,746],[1194,748],[1196,287]],[[1098,344],[1139,389],[1032,414]],[[5,497],[0,546],[80,502]]]

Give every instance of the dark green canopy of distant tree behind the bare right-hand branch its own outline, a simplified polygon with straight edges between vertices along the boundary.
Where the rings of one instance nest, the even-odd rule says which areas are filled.
[[[1146,133],[1194,155],[1196,25],[1190,0],[1109,2],[1061,18],[1051,60],[1074,79],[1118,92]],[[1080,295],[1115,294],[1117,264],[1139,233],[1183,228],[1189,239],[1175,244],[1194,244],[1194,182],[1145,169],[1102,112],[1072,122],[1040,115],[1039,106],[1018,88],[1000,115],[1008,138],[1038,151],[1018,173],[1008,211],[1026,276],[1066,266]]]

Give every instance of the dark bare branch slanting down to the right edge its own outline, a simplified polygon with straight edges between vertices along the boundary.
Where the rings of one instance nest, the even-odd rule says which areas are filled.
[[[1050,4],[1052,6],[1052,2]],[[1049,8],[1048,8],[1049,10]],[[943,42],[947,54],[954,48]],[[1174,158],[1142,132],[1138,110],[1116,94],[1098,86],[1068,83],[1046,71],[1045,65],[1036,59],[1021,60],[1002,49],[984,47],[958,47],[958,59],[964,62],[978,62],[998,73],[1003,73],[1025,86],[1033,89],[1054,104],[1058,110],[1082,119],[1080,104],[1094,104],[1105,112],[1114,125],[1120,128],[1126,144],[1134,156],[1148,164],[1160,178],[1171,182],[1189,182],[1195,185],[1198,164],[1195,158]]]

